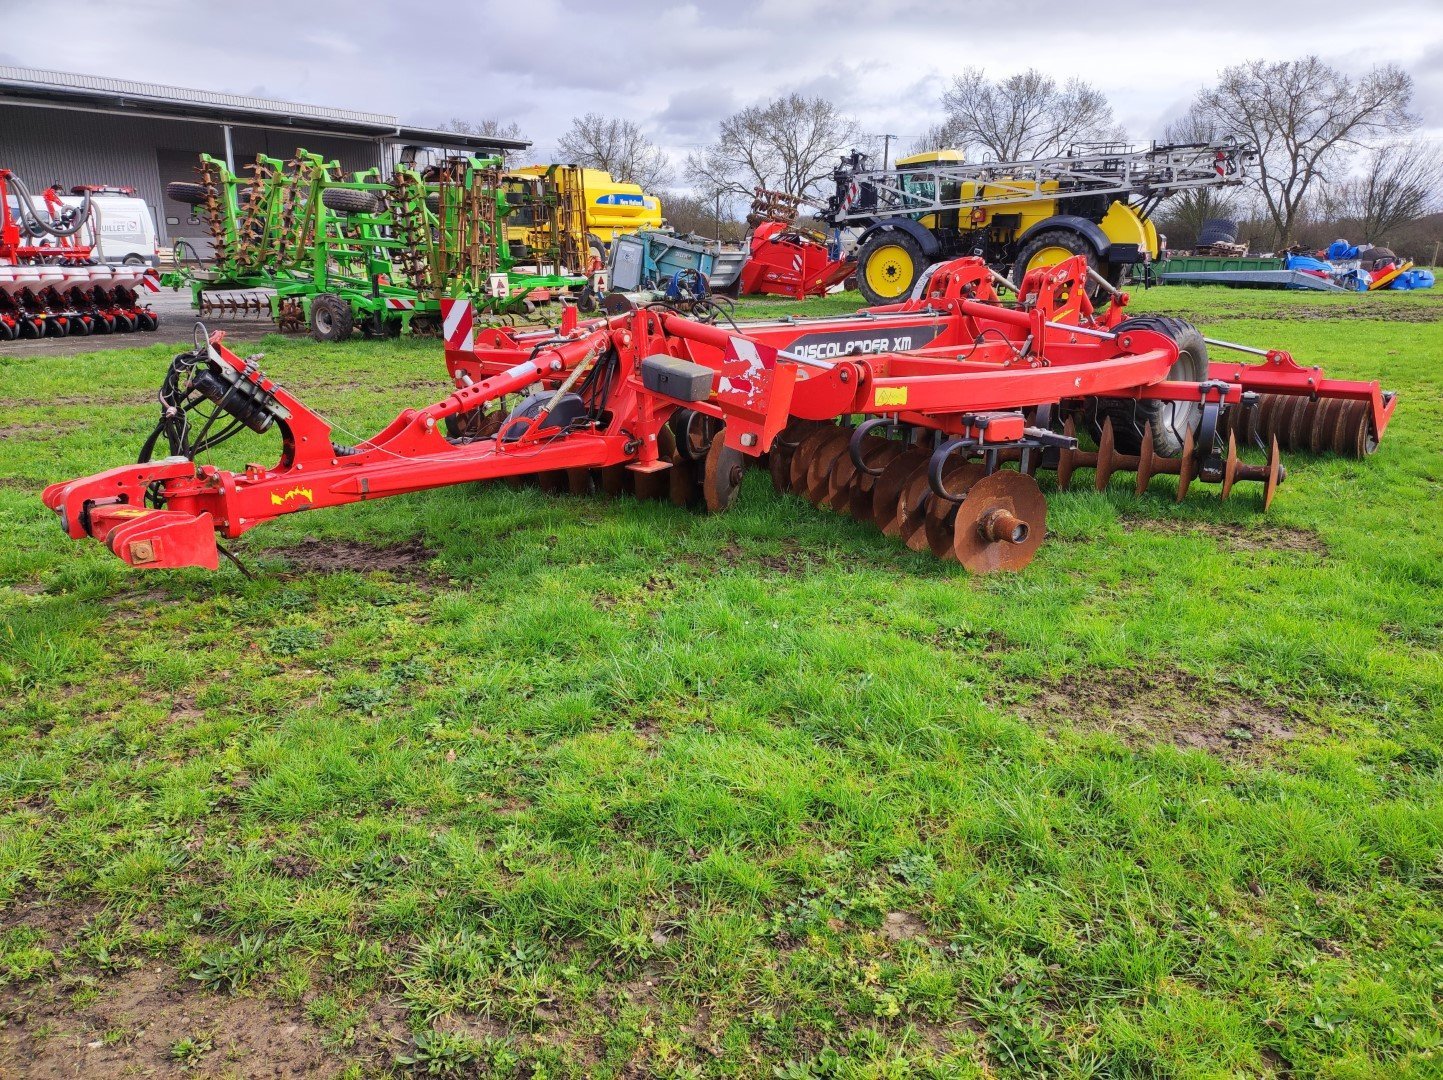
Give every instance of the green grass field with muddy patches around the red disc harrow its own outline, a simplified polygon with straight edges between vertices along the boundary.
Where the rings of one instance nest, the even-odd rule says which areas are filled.
[[[0,352],[0,1074],[1443,1074],[1443,295],[1136,306],[1392,429],[1267,517],[1052,495],[1019,576],[753,472],[296,515],[247,580],[39,502],[165,347]],[[356,435],[443,390],[263,348]]]

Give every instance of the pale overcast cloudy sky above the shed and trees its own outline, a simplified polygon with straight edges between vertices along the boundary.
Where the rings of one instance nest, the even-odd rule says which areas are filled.
[[[788,91],[823,94],[906,147],[967,65],[1089,79],[1146,140],[1219,68],[1307,52],[1352,72],[1403,65],[1427,134],[1443,134],[1443,0],[65,0],[53,19],[0,0],[7,13],[0,62],[416,124],[514,120],[540,157],[573,116],[599,111],[635,120],[680,165],[720,117]]]

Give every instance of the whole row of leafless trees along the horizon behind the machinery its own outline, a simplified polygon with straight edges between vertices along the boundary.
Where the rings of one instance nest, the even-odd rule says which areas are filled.
[[[1038,160],[1127,137],[1097,87],[1076,78],[1059,82],[1036,69],[994,79],[967,68],[938,104],[937,121],[911,152]],[[514,124],[495,121],[452,127],[519,136]],[[1260,250],[1320,247],[1338,235],[1431,247],[1443,238],[1443,225],[1431,217],[1443,218],[1443,154],[1417,137],[1417,129],[1413,79],[1397,65],[1349,75],[1303,56],[1225,68],[1159,141],[1235,139],[1257,147],[1258,160],[1242,188],[1173,196],[1157,215],[1159,227],[1173,247],[1190,245],[1209,218],[1240,219],[1240,238]],[[733,208],[750,199],[753,188],[820,201],[838,157],[861,150],[880,165],[882,149],[879,137],[827,98],[788,94],[724,117],[716,137],[680,165],[636,123],[599,113],[571,121],[556,157],[659,192],[678,230],[716,234],[739,231]],[[674,189],[678,183],[687,189]]]

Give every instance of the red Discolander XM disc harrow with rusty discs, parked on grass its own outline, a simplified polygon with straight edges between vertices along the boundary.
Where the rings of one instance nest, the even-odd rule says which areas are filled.
[[[466,342],[446,354],[457,388],[355,446],[216,334],[173,361],[141,463],[43,498],[71,537],[101,540],[133,566],[215,569],[218,536],[472,481],[535,476],[571,491],[595,481],[726,510],[743,465],[769,455],[779,488],[984,572],[1025,566],[1042,541],[1039,469],[1066,482],[1091,466],[1100,487],[1120,469],[1140,487],[1173,474],[1180,494],[1214,482],[1227,495],[1251,479],[1267,502],[1284,475],[1276,440],[1267,465],[1248,466],[1235,436],[1219,435],[1258,393],[1358,403],[1374,442],[1387,427],[1395,400],[1375,383],[1325,380],[1281,352],[1177,377],[1177,339],[1157,321],[1098,316],[1085,273],[1082,258],[1033,271],[1022,299],[1003,305],[981,260],[964,258],[902,305],[745,329],[655,308],[589,322],[569,312],[558,331],[473,328],[447,335]],[[1071,426],[1089,423],[1089,403],[1108,404],[1091,455]],[[1120,403],[1149,419],[1115,427]],[[1154,419],[1182,430],[1180,458],[1156,450]],[[280,432],[274,466],[195,461],[242,427]],[[162,436],[170,456],[149,461]]]

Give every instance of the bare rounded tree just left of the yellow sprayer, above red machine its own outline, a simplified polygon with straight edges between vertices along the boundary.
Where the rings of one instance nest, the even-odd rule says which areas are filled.
[[[815,196],[857,126],[825,98],[791,94],[722,121],[717,140],[687,157],[687,179],[709,198],[753,188]]]

